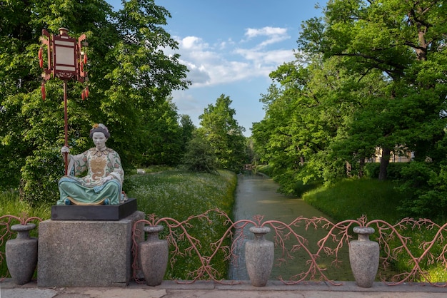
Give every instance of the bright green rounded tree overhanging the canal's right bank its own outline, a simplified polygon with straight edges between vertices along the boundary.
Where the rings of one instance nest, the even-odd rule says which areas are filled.
[[[286,63],[270,75],[276,84],[261,98],[266,117],[253,124],[252,133],[284,192],[293,192],[298,181],[330,182],[348,174],[351,151],[334,154],[333,144],[346,138],[363,87],[339,60],[313,57],[306,67]]]

